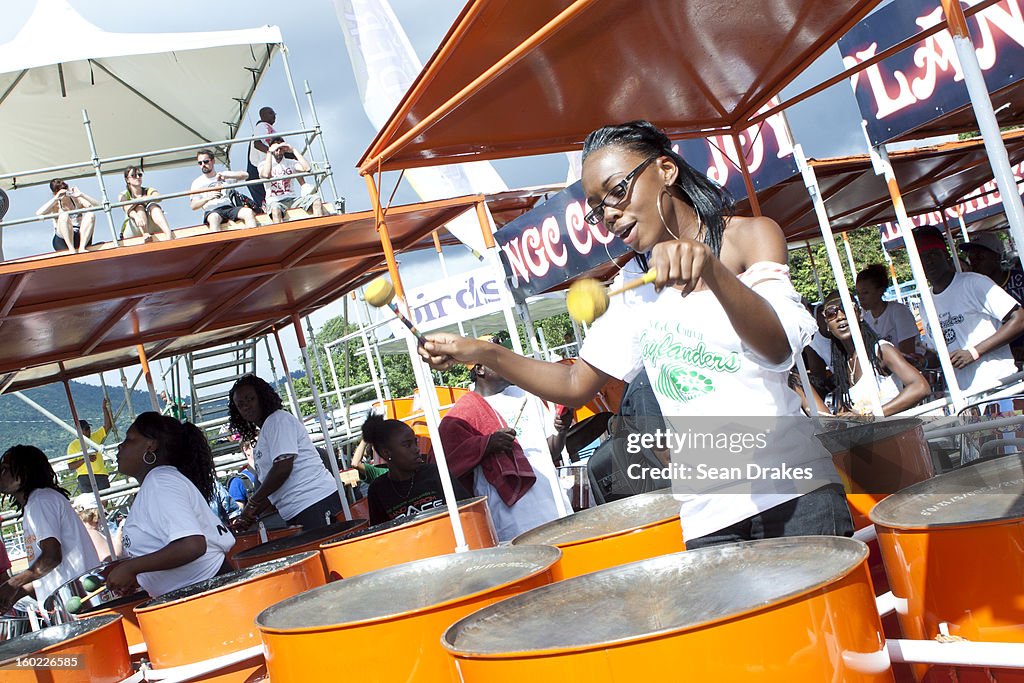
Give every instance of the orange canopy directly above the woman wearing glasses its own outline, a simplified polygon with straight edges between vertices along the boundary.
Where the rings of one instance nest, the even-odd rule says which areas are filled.
[[[741,130],[879,0],[472,0],[364,173],[579,148],[648,119]]]

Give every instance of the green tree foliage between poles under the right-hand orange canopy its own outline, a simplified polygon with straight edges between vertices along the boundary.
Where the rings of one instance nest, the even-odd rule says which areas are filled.
[[[882,247],[882,240],[879,236],[879,228],[874,225],[860,227],[850,230],[847,233],[850,241],[850,250],[853,252],[853,263],[857,270],[863,270],[872,263],[885,263],[886,257]],[[843,244],[843,237],[836,236],[836,245],[839,248],[840,260],[843,263],[843,271],[846,274],[847,285],[853,288],[853,278],[856,273],[849,272],[850,264],[846,257],[846,247]],[[818,276],[821,280],[821,291],[827,294],[836,289],[836,278],[833,274],[831,266],[828,262],[828,254],[824,244],[811,247],[813,261],[808,256],[807,249],[798,249],[790,252],[790,274],[793,285],[800,292],[801,296],[808,301],[818,300],[818,290],[814,284],[814,269],[816,266]],[[900,283],[913,280],[910,273],[910,263],[907,261],[906,250],[899,249],[890,254],[893,267],[896,269],[896,276]]]

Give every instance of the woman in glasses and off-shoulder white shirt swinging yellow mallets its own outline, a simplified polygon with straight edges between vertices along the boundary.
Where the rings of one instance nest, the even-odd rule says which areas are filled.
[[[436,369],[486,365],[529,393],[569,405],[589,399],[609,377],[629,378],[645,368],[663,414],[683,428],[680,418],[687,416],[691,425],[697,416],[799,416],[786,374],[815,326],[790,282],[778,225],[733,216],[728,193],[644,121],[587,137],[583,186],[591,207],[587,222],[603,221],[637,252],[637,261],[656,270],[655,287],[614,297],[572,366],[451,334],[428,336],[421,355]],[[628,264],[617,284],[639,278],[629,271],[641,269]],[[785,423],[790,434],[796,420]],[[852,532],[828,454],[809,435],[796,449],[780,436],[755,454],[758,465],[813,466],[816,487],[758,481],[746,482],[752,488],[742,495],[687,494],[681,518],[688,547]]]

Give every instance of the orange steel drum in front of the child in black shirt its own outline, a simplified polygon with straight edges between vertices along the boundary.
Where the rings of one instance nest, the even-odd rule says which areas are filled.
[[[494,548],[498,533],[487,499],[472,498],[459,504],[459,519],[470,550]],[[447,507],[441,506],[414,517],[400,517],[321,545],[328,579],[354,577],[402,562],[446,555],[455,550],[455,533]]]

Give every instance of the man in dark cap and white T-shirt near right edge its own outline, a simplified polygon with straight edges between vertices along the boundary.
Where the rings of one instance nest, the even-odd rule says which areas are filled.
[[[956,383],[968,394],[1000,384],[1017,372],[1009,344],[1024,333],[1020,304],[989,278],[956,272],[946,241],[934,225],[914,228],[913,239]],[[935,331],[928,332],[934,338]]]

